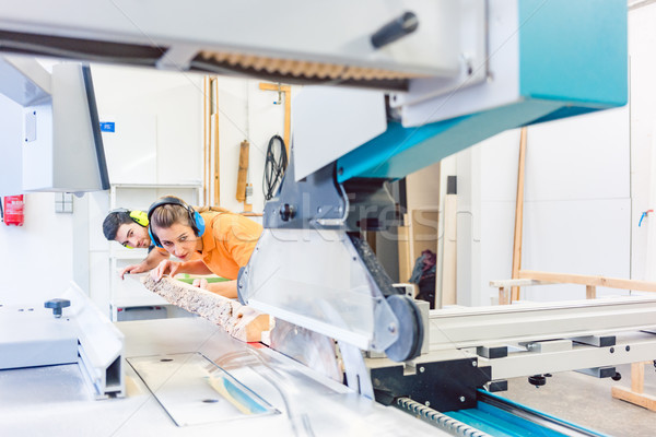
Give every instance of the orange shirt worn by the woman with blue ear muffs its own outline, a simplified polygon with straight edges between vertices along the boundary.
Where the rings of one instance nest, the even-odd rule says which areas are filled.
[[[202,262],[212,273],[236,280],[255,250],[262,226],[239,214],[208,211],[200,215],[206,222]]]

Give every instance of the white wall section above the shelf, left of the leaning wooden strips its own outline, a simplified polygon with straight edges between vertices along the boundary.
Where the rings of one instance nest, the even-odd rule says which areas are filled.
[[[202,75],[108,66],[92,71],[101,121],[116,123],[116,132],[103,133],[110,182],[200,184]]]

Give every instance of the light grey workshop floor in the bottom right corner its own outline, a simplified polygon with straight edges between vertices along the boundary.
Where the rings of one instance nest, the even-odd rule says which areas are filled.
[[[631,387],[631,366],[618,366],[617,370],[622,375],[618,382],[574,371],[553,374],[540,388],[528,383],[527,378],[511,379],[508,391],[497,394],[609,436],[656,436],[656,412],[610,395],[614,385]],[[656,395],[654,366],[645,366],[644,392]]]

